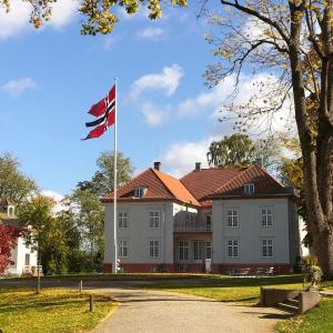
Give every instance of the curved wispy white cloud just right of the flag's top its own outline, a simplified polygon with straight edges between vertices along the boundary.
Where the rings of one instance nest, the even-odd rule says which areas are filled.
[[[160,90],[165,95],[172,95],[183,77],[183,69],[174,63],[171,67],[164,67],[161,73],[147,74],[138,79],[131,88],[130,97],[137,99],[143,91]]]

